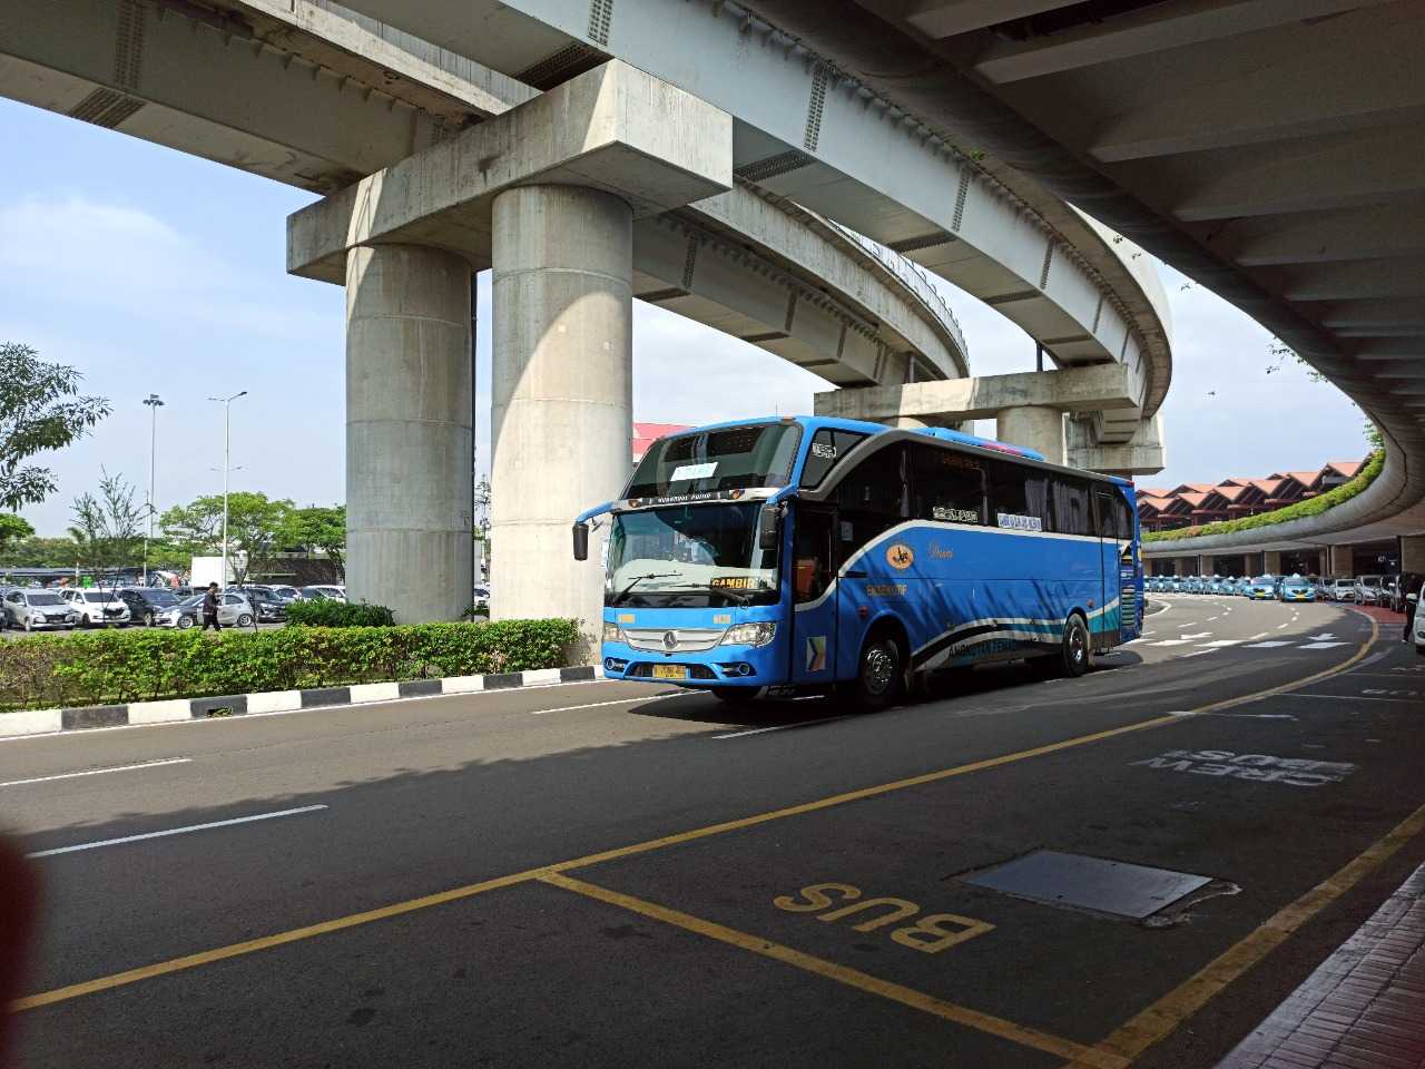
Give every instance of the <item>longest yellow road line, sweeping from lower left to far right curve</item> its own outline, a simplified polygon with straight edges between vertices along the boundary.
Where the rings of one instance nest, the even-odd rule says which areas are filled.
[[[496,877],[493,879],[484,879],[479,884],[466,884],[465,887],[450,888],[449,891],[440,891],[433,895],[423,895],[420,898],[412,898],[405,902],[393,902],[392,905],[385,905],[378,909],[368,909],[361,914],[348,914],[346,916],[338,916],[332,921],[322,921],[321,924],[306,925],[305,928],[294,928],[286,932],[278,932],[275,935],[265,935],[259,939],[248,939],[245,942],[229,944],[227,946],[218,946],[211,951],[202,951],[200,954],[190,954],[182,958],[171,958],[168,961],[154,962],[152,965],[142,965],[137,969],[127,969],[124,972],[115,972],[110,976],[100,976],[97,979],[84,981],[83,983],[71,983],[64,988],[54,988],[53,991],[44,991],[37,995],[27,995],[10,1003],[13,1012],[24,1009],[36,1009],[38,1006],[48,1006],[54,1002],[66,1002],[68,999],[80,998],[81,995],[93,995],[98,991],[108,991],[111,988],[121,988],[128,983],[137,983],[138,981],[152,979],[155,976],[165,976],[172,972],[182,972],[184,969],[192,969],[200,965],[211,965],[212,962],[225,961],[228,958],[239,958],[247,954],[255,954],[258,951],[265,951],[272,946],[284,946],[286,944],[299,942],[302,939],[311,939],[318,935],[328,935],[329,932],[339,932],[345,928],[356,928],[363,924],[370,924],[372,921],[383,921],[390,916],[399,916],[402,914],[415,912],[418,909],[429,909],[430,907],[445,905],[446,902],[455,902],[462,898],[470,898],[473,895],[483,894],[486,891],[494,891],[502,887],[513,887],[516,884],[524,884],[532,879],[537,879],[550,872],[567,872],[576,868],[584,868],[587,865],[597,865],[604,861],[614,861],[617,858],[633,857],[636,854],[646,854],[654,849],[663,849],[665,847],[674,847],[681,842],[693,842],[694,840],[707,838],[710,835],[721,835],[728,831],[740,831],[741,828],[752,828],[758,824],[767,824],[768,821],[782,820],[785,817],[798,817],[805,812],[817,812],[819,810],[828,810],[834,805],[845,805],[846,802],[861,801],[864,798],[875,798],[882,794],[891,794],[892,791],[903,791],[908,787],[921,787],[929,783],[938,783],[940,780],[949,780],[956,775],[969,775],[970,773],[985,771],[986,768],[999,768],[1000,765],[1013,764],[1016,761],[1026,761],[1032,757],[1042,757],[1045,754],[1053,754],[1060,750],[1069,750],[1077,745],[1087,745],[1089,743],[1099,743],[1104,738],[1113,738],[1116,735],[1123,735],[1130,731],[1143,731],[1146,728],[1163,727],[1164,724],[1173,724],[1181,720],[1188,720],[1200,713],[1214,713],[1230,706],[1240,706],[1248,701],[1257,701],[1263,697],[1270,697],[1273,694],[1280,694],[1287,690],[1294,690],[1297,687],[1305,687],[1311,683],[1325,678],[1327,676],[1334,676],[1337,673],[1345,671],[1352,664],[1355,664],[1365,651],[1375,643],[1379,634],[1379,627],[1375,626],[1372,620],[1371,639],[1349,659],[1342,661],[1335,668],[1328,668],[1320,671],[1315,676],[1308,676],[1297,683],[1288,683],[1281,687],[1273,687],[1271,690],[1258,691],[1254,694],[1244,694],[1237,698],[1227,698],[1226,701],[1217,701],[1210,706],[1203,706],[1194,708],[1187,714],[1170,714],[1164,717],[1153,717],[1150,720],[1140,720],[1134,724],[1124,724],[1123,727],[1109,728],[1106,731],[1094,731],[1093,734],[1079,735],[1076,738],[1066,738],[1059,743],[1047,743],[1045,745],[1032,747],[1030,750],[1020,750],[1013,754],[1003,754],[1000,757],[989,757],[982,761],[972,761],[970,764],[956,765],[953,768],[942,768],[935,773],[925,773],[923,775],[912,775],[905,780],[895,780],[886,784],[878,784],[875,787],[862,787],[856,791],[846,791],[844,794],[834,794],[829,798],[819,798],[811,802],[802,802],[801,805],[788,805],[781,810],[772,810],[770,812],[760,812],[752,817],[742,817],[740,820],[724,821],[721,824],[710,824],[704,828],[694,828],[693,831],[678,832],[675,835],[664,835],[663,838],[648,840],[647,842],[634,842],[627,847],[617,847],[614,849],[604,849],[597,854],[586,854],[580,858],[573,858],[570,861],[560,861],[551,865],[544,865],[542,868],[530,868],[523,872],[512,872],[510,875]]]

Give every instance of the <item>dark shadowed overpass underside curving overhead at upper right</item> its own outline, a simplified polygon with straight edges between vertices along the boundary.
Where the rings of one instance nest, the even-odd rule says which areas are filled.
[[[1357,401],[1340,509],[1168,556],[1404,537],[1425,570],[1425,20],[1414,3],[754,0],[953,144],[1207,285]],[[1156,550],[1154,550],[1156,552]]]

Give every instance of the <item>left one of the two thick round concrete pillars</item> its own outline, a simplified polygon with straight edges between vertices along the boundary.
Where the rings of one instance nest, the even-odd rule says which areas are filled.
[[[470,267],[415,245],[346,254],[346,589],[396,623],[470,606]]]

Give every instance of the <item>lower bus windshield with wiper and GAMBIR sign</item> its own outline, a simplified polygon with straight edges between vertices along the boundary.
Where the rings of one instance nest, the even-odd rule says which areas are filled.
[[[775,604],[777,550],[757,546],[758,503],[681,505],[614,516],[608,606]]]

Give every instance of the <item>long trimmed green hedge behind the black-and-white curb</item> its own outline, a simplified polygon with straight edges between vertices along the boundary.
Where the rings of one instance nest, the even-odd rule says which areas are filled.
[[[0,641],[0,711],[564,667],[574,620],[34,636]]]

